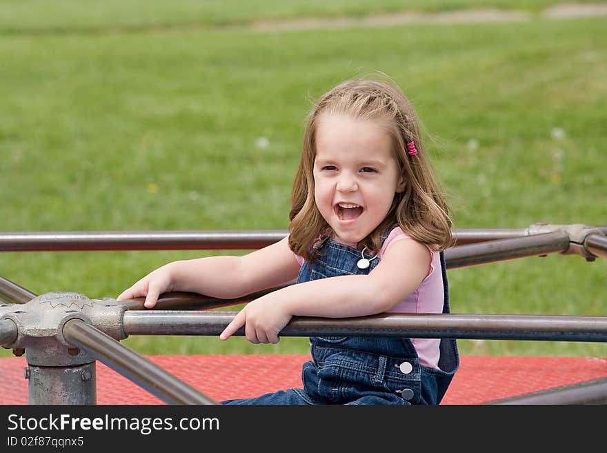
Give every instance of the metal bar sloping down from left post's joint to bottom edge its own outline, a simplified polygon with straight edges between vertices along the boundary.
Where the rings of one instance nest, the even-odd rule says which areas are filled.
[[[70,319],[66,322],[63,326],[63,336],[68,342],[88,352],[165,403],[216,404],[216,401],[201,394],[191,385],[81,319]]]

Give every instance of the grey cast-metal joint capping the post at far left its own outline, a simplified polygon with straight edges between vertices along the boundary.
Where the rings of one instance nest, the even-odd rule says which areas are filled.
[[[0,319],[17,325],[17,339],[5,348],[16,355],[26,352],[30,365],[71,366],[94,358],[75,348],[63,336],[63,325],[81,319],[115,339],[125,339],[122,317],[126,306],[115,299],[88,299],[77,292],[48,292],[23,305],[3,305]]]

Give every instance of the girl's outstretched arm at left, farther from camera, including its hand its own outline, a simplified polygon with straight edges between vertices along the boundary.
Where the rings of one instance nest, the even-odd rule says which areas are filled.
[[[163,292],[188,291],[232,299],[294,279],[299,263],[288,237],[244,256],[208,256],[174,261],[150,272],[123,291],[118,300],[145,296],[146,308]]]

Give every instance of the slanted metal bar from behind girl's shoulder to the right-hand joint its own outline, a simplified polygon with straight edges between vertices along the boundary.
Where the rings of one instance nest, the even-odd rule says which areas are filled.
[[[492,263],[524,256],[566,252],[569,235],[566,232],[534,234],[514,239],[499,239],[470,245],[459,245],[445,251],[447,268]]]

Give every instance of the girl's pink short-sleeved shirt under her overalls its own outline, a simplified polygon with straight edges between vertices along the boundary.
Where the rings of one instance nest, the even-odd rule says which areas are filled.
[[[394,228],[384,245],[379,250],[379,259],[384,256],[388,247],[395,242],[403,241],[408,239],[413,241],[411,237],[406,234],[401,228]],[[356,244],[344,243],[350,247],[356,247]],[[428,247],[430,252],[430,268],[428,274],[424,280],[421,281],[417,290],[412,292],[410,296],[404,301],[399,302],[395,307],[388,310],[388,313],[442,313],[444,303],[444,289],[443,289],[443,275],[441,272],[440,256],[438,252]],[[295,259],[299,265],[304,264],[304,258],[299,255],[295,255]],[[428,338],[412,338],[411,343],[417,351],[419,356],[419,363],[426,365],[430,368],[439,368],[439,356],[440,356],[440,339],[428,339]]]

